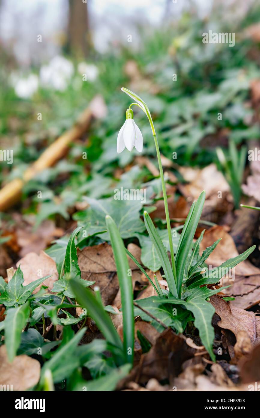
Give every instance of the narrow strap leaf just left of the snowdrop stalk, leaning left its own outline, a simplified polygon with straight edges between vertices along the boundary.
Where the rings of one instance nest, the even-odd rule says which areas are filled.
[[[151,238],[151,241],[154,244],[154,247],[157,251],[157,254],[161,260],[162,263],[162,268],[164,270],[164,274],[167,280],[167,284],[169,287],[169,291],[172,293],[173,296],[178,296],[177,294],[177,287],[176,287],[176,283],[174,280],[174,275],[172,272],[172,266],[170,264],[169,261],[169,257],[167,254],[167,251],[165,250],[165,247],[163,245],[163,242],[151,220],[151,218],[149,217],[149,214],[147,212],[144,212],[144,223],[146,226],[146,229],[148,231],[148,234]]]

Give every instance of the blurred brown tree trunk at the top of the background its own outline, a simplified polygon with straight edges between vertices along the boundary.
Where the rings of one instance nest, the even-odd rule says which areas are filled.
[[[91,48],[87,3],[69,0],[68,43],[66,50],[76,58],[86,57]]]

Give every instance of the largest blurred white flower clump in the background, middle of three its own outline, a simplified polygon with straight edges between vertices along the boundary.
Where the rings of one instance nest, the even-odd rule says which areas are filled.
[[[58,55],[51,59],[48,65],[40,68],[40,82],[44,87],[64,91],[73,72],[72,62]]]

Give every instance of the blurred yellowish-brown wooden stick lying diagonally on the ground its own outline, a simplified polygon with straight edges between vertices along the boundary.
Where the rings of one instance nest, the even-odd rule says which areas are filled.
[[[53,166],[60,158],[62,158],[68,146],[73,140],[79,138],[89,127],[92,116],[98,117],[96,109],[97,104],[101,104],[100,97],[95,97],[90,105],[80,115],[75,125],[67,130],[63,135],[57,138],[43,153],[40,155],[32,166],[27,168],[23,174],[23,178],[15,178],[0,190],[0,211],[4,211],[19,201],[23,185],[33,178],[37,173],[45,168]],[[98,102],[99,101],[99,102]],[[102,117],[102,115],[100,115]]]

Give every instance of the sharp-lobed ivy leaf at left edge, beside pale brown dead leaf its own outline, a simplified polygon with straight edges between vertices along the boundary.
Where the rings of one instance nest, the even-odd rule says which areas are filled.
[[[0,303],[3,303],[5,306],[22,305],[27,301],[34,289],[49,277],[50,276],[42,277],[41,279],[34,280],[27,286],[23,286],[23,272],[19,265],[15,274],[6,286],[4,293],[0,296]]]

